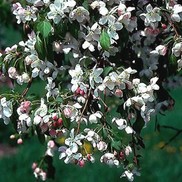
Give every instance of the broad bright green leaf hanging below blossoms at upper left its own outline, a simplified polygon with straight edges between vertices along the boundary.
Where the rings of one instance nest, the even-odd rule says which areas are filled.
[[[44,38],[48,37],[49,33],[51,32],[51,28],[51,24],[46,20],[37,24],[37,30]]]

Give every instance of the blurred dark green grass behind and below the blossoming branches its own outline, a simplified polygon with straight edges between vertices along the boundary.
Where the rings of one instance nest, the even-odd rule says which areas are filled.
[[[181,126],[181,102],[182,89],[172,92],[176,99],[174,111],[166,113],[166,116],[158,116],[159,122],[163,125],[171,125],[177,128]],[[137,182],[176,182],[182,181],[182,135],[160,149],[171,136],[175,134],[170,129],[162,129],[161,132],[154,132],[154,122],[148,124],[142,133],[146,149],[141,151],[141,177],[136,177]],[[0,135],[2,137],[2,134]],[[5,135],[5,138],[8,138]],[[6,138],[6,139],[7,139]],[[5,140],[5,139],[4,139]],[[40,146],[36,138],[28,140],[20,146],[18,153],[0,160],[0,181],[1,182],[34,182],[31,164],[43,154],[45,146]],[[84,168],[75,165],[66,165],[58,158],[54,158],[56,166],[55,180],[49,182],[117,182],[126,181],[120,179],[121,168],[111,168],[99,162],[86,164]]]

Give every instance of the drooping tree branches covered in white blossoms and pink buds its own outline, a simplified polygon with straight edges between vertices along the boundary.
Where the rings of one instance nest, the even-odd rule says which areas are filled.
[[[47,144],[33,165],[36,178],[50,176],[52,164],[46,169],[44,162],[56,152],[80,167],[94,163],[96,153],[100,162],[122,166],[121,177],[139,175],[141,131],[152,114],[172,105],[166,78],[180,77],[182,68],[182,6],[161,3],[13,4],[24,37],[0,56],[0,71],[13,84],[0,93],[0,119],[13,123],[18,143],[28,134]]]

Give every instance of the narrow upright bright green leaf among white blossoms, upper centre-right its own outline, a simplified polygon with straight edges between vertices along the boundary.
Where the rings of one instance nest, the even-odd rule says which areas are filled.
[[[110,41],[109,34],[105,30],[102,30],[99,42],[103,50],[106,50],[106,51],[109,50],[111,46],[111,41]]]

